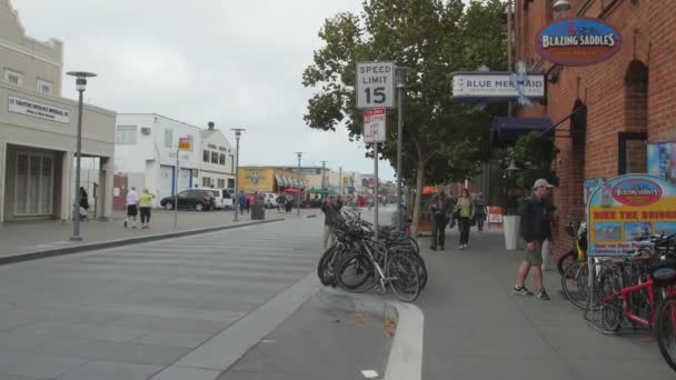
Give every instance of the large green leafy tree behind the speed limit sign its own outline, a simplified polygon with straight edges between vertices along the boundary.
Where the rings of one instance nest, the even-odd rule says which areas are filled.
[[[350,140],[364,124],[356,108],[358,61],[395,61],[406,67],[402,180],[421,193],[426,181],[464,180],[479,172],[487,128],[496,107],[478,110],[451,99],[453,72],[489,66],[506,69],[506,27],[499,0],[370,0],[358,14],[327,19],[319,31],[326,46],[302,74],[318,89],[309,99],[305,121],[335,131],[345,123]],[[387,119],[388,140],[381,158],[396,162],[396,112]],[[370,147],[369,147],[370,148]],[[372,157],[372,151],[367,154]],[[417,232],[421,197],[415,199]]]

